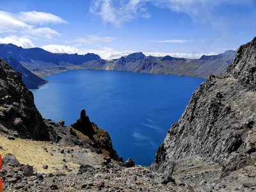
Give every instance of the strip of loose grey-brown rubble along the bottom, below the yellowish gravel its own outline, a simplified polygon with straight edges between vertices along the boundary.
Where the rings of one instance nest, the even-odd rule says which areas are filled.
[[[111,161],[100,166],[81,166],[79,173],[65,173],[64,170],[70,170],[65,163],[59,172],[37,173],[33,167],[13,160],[15,157],[8,158],[9,163],[0,172],[4,191],[188,191],[173,182],[162,184],[163,175],[141,166],[125,168]]]

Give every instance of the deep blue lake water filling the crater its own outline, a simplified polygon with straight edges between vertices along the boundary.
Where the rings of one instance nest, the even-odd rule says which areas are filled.
[[[70,125],[84,108],[91,121],[109,132],[119,156],[146,166],[205,81],[111,70],[69,70],[45,79],[49,83],[31,90],[44,118]]]

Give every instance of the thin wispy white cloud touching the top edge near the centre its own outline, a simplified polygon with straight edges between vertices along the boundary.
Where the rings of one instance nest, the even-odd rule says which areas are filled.
[[[104,22],[110,22],[120,26],[122,22],[128,22],[136,17],[150,17],[145,3],[148,0],[93,0],[90,13],[97,15]]]

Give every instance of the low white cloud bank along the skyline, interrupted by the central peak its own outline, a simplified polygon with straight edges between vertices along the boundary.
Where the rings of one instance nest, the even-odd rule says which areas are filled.
[[[128,54],[131,54],[135,51],[128,51],[128,50],[122,50],[122,49],[113,49],[112,47],[102,47],[99,50],[96,49],[79,49],[78,46],[67,46],[67,45],[45,45],[41,47],[42,49],[45,49],[45,51],[49,52],[56,52],[56,53],[68,53],[68,54],[86,54],[88,52],[93,52],[95,54],[98,54],[100,58],[105,60],[112,60],[117,59],[122,56],[127,56]],[[172,56],[176,58],[190,58],[190,59],[196,59],[200,58],[202,54],[193,54],[193,53],[180,53],[180,52],[143,52],[146,56]],[[209,54],[205,55],[212,55],[214,52],[211,52]]]

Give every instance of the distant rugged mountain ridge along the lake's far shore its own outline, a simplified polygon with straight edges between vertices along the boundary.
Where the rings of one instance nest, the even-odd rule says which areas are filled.
[[[145,56],[142,52],[134,52],[117,60],[102,60],[98,55],[90,53],[54,54],[40,48],[22,49],[12,44],[0,44],[0,56],[15,58],[40,77],[65,70],[85,68],[206,78],[210,74],[225,72],[235,54],[235,51],[226,51],[223,54],[190,60],[171,56]]]

